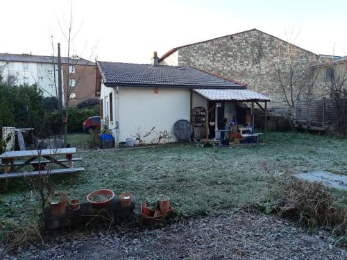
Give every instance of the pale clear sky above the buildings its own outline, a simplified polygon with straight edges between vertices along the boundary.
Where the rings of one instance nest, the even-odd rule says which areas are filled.
[[[66,31],[70,4],[1,1],[0,52],[51,54],[53,35],[66,55],[58,21]],[[251,28],[314,53],[347,55],[347,1],[342,0],[74,0],[72,5],[73,29],[79,31],[74,52],[85,58],[147,63],[153,51],[162,55],[175,46]]]

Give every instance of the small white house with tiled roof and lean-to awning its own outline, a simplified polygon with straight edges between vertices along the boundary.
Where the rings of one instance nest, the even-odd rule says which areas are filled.
[[[147,144],[176,141],[173,128],[180,119],[191,121],[194,130],[199,128],[202,137],[208,137],[221,119],[235,119],[239,107],[269,101],[235,80],[192,67],[159,65],[156,53],[152,64],[99,61],[96,67],[101,119],[112,131],[116,146],[129,137],[140,137]],[[194,119],[196,109],[205,111],[199,123]],[[239,115],[244,123],[250,119]]]

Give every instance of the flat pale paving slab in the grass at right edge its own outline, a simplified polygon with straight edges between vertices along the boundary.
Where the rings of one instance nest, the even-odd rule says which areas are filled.
[[[298,173],[296,177],[308,182],[322,182],[323,185],[330,188],[347,191],[347,175],[330,173],[328,171],[312,171],[309,173]]]

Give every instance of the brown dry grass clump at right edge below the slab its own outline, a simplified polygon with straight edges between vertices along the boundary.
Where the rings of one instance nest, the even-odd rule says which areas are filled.
[[[347,209],[339,207],[328,187],[319,182],[291,179],[280,198],[280,214],[313,229],[323,227],[332,234],[346,234]]]

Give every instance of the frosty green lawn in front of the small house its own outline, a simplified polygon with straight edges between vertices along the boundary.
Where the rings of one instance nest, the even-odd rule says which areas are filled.
[[[71,143],[73,143],[71,141]],[[132,192],[137,205],[171,198],[177,217],[219,214],[225,209],[276,200],[278,181],[303,171],[347,173],[347,140],[289,132],[269,133],[268,144],[242,148],[196,148],[174,144],[134,150],[90,150],[74,177],[56,176],[58,191],[69,198],[96,189]],[[335,191],[341,205],[347,193]],[[139,207],[137,207],[137,211]],[[0,195],[0,237],[39,219],[40,202],[24,180],[10,180]],[[2,234],[1,234],[2,233]]]

